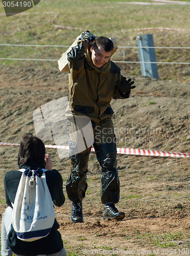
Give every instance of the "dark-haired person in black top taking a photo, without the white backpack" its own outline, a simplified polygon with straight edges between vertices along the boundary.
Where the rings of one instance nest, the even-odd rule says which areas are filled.
[[[50,159],[50,155],[46,154],[43,141],[30,133],[25,134],[20,141],[17,163],[19,169],[47,169],[45,172],[46,182],[52,201],[58,207],[64,204],[65,196],[62,191],[62,177],[57,170],[52,169],[52,160]],[[8,208],[4,211],[2,217],[1,255],[12,256],[14,252],[16,255],[23,256],[41,254],[47,256],[66,256],[61,234],[57,230],[59,224],[56,219],[47,237],[32,242],[25,242],[17,238],[11,225],[12,204],[14,204],[22,174],[19,170],[11,170],[5,175],[4,187]]]

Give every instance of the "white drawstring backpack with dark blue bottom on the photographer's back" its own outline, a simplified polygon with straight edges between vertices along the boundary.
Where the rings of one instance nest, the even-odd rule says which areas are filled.
[[[23,172],[16,192],[12,225],[17,238],[31,242],[48,236],[55,211],[46,183],[46,169],[19,169]]]

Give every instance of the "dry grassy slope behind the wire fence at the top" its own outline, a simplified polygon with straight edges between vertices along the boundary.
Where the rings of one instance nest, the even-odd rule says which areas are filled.
[[[89,29],[95,35],[114,37],[118,46],[137,46],[136,36],[151,33],[157,47],[188,47],[188,8],[185,5],[128,5],[123,1],[44,1],[27,11],[27,15],[0,16],[1,44],[70,46],[75,38]],[[45,12],[55,13],[45,13]],[[0,12],[4,13],[3,5]],[[144,15],[146,14],[146,15]],[[75,29],[58,28],[70,27]],[[180,31],[157,28],[180,29]],[[142,30],[143,28],[155,28]],[[68,47],[1,46],[1,58],[57,60]],[[159,62],[189,62],[188,49],[155,49]],[[139,61],[137,48],[119,48],[112,57],[119,61]],[[57,69],[57,61],[0,60],[0,65]],[[128,75],[140,75],[139,63],[118,63]],[[188,65],[159,64],[161,79],[190,81]]]

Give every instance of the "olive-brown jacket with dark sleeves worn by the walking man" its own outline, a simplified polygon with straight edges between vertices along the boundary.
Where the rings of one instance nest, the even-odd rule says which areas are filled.
[[[121,81],[120,68],[111,60],[101,68],[95,67],[91,59],[89,44],[78,40],[68,52],[70,111],[66,115],[85,115],[94,122],[112,117],[111,99],[129,98],[115,84]]]

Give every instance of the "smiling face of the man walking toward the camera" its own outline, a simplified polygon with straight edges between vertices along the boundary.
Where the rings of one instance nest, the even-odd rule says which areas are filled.
[[[91,46],[90,49],[92,53],[92,62],[97,67],[100,68],[110,59],[112,52],[105,52],[100,46],[95,48]]]

